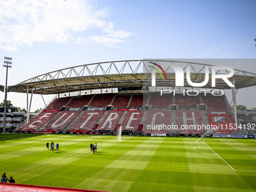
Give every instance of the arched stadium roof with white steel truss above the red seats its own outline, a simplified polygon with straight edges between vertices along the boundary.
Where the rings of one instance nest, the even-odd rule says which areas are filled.
[[[151,71],[153,69],[148,66],[152,66],[150,62],[157,63],[160,66],[163,65],[163,63],[174,63],[181,66],[182,69],[190,67],[190,79],[195,83],[203,82],[205,78],[205,68],[209,66],[209,82],[203,88],[212,88],[211,67],[214,65],[169,59],[141,59],[96,62],[59,69],[9,86],[8,91],[27,93],[28,90],[29,93],[33,92],[35,94],[57,94],[111,87],[143,87],[147,84],[151,86]],[[175,87],[174,70],[170,67],[164,70],[168,80],[162,80],[160,75],[157,74],[157,86]],[[227,70],[218,70],[218,72],[216,72],[218,75],[228,73]],[[256,85],[256,74],[252,72],[234,69],[233,79],[236,82],[236,89]],[[233,79],[230,78],[230,81],[233,82]],[[186,75],[184,75],[184,87],[190,87],[190,85],[187,84]],[[222,79],[217,79],[215,88],[230,89]]]

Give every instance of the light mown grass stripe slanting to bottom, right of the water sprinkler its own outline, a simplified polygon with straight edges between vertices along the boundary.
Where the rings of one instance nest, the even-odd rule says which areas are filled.
[[[159,142],[154,138],[147,138],[144,142],[127,151],[126,154],[123,154],[117,160],[109,163],[104,169],[92,177],[87,178],[78,187],[87,186],[94,188],[97,186],[99,190],[116,189],[117,191],[128,191],[133,182],[136,181],[137,175],[145,169],[151,157],[154,156],[155,151],[152,151],[152,147],[149,148],[148,146],[154,145],[154,149],[156,150],[161,142],[163,141]],[[141,150],[138,149],[141,148],[143,148],[143,151],[148,151],[146,156],[139,154]]]

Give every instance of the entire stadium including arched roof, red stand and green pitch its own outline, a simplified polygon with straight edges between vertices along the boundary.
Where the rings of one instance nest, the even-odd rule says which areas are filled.
[[[27,113],[15,126],[17,118],[7,113],[8,131],[17,134],[1,134],[0,161],[20,185],[0,187],[254,191],[256,116],[240,122],[236,92],[255,86],[256,74],[230,71],[169,59],[122,60],[59,69],[9,86],[8,92],[26,93]],[[34,94],[56,96],[31,117]],[[60,151],[46,150],[52,141]],[[90,143],[98,144],[96,154]]]

